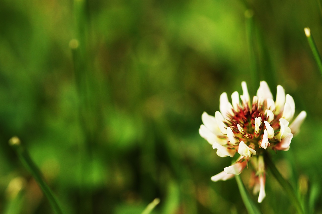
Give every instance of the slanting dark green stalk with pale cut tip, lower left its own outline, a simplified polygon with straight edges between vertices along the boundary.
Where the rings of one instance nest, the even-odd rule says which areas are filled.
[[[15,150],[15,152],[18,154],[18,157],[20,158],[21,162],[25,165],[27,169],[29,169],[29,172],[33,175],[34,179],[38,183],[39,187],[42,189],[44,195],[47,197],[48,201],[52,205],[52,209],[57,214],[62,214],[62,209],[56,199],[56,197],[53,195],[51,189],[47,185],[47,183],[44,181],[43,176],[38,169],[38,167],[34,164],[33,160],[29,156],[27,150],[21,145],[20,139],[18,137],[12,137],[9,140],[9,145]]]

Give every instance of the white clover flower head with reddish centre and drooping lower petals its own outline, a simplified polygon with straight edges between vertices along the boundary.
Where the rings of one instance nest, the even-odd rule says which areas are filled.
[[[230,179],[242,173],[250,162],[254,171],[251,178],[253,192],[259,192],[260,203],[265,198],[263,152],[266,149],[289,150],[293,135],[298,133],[306,112],[301,111],[292,121],[295,103],[291,95],[285,95],[280,85],[277,86],[275,102],[265,81],[260,82],[252,102],[246,82],[242,82],[242,92],[240,96],[238,92],[232,93],[232,104],[225,92],[221,94],[220,111],[216,111],[214,117],[206,112],[202,114],[204,124],[200,126],[199,134],[217,149],[218,156],[233,157],[237,152],[240,155],[234,164],[225,167],[211,180]]]

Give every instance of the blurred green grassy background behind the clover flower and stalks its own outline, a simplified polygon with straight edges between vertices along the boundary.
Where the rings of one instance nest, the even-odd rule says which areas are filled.
[[[247,213],[235,179],[210,180],[231,158],[198,129],[222,92],[246,81],[252,96],[259,80],[308,113],[275,160],[322,213],[322,78],[307,26],[322,51],[316,0],[1,0],[0,213],[53,213],[9,147],[14,135],[66,213],[140,213],[155,198],[153,213]],[[294,213],[270,174],[266,195],[263,213]]]

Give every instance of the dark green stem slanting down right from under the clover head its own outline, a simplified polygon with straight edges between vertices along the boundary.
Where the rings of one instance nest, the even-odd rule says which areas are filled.
[[[265,160],[265,164],[270,169],[270,172],[274,175],[276,180],[279,182],[279,184],[285,190],[286,194],[288,195],[289,200],[293,203],[293,205],[296,208],[296,210],[298,211],[298,213],[304,214],[301,203],[298,200],[298,197],[297,197],[292,185],[287,180],[285,180],[283,178],[283,176],[279,173],[279,170],[276,168],[274,162],[272,161],[272,159],[268,153],[265,153],[264,160]]]

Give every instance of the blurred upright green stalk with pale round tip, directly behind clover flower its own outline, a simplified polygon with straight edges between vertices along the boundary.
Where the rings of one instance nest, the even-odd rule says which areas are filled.
[[[248,43],[248,52],[250,58],[250,66],[251,66],[251,80],[252,80],[252,89],[254,89],[255,84],[259,82],[259,76],[257,73],[257,62],[255,56],[255,45],[254,45],[254,12],[250,9],[246,10],[245,18],[246,18],[246,36]]]

